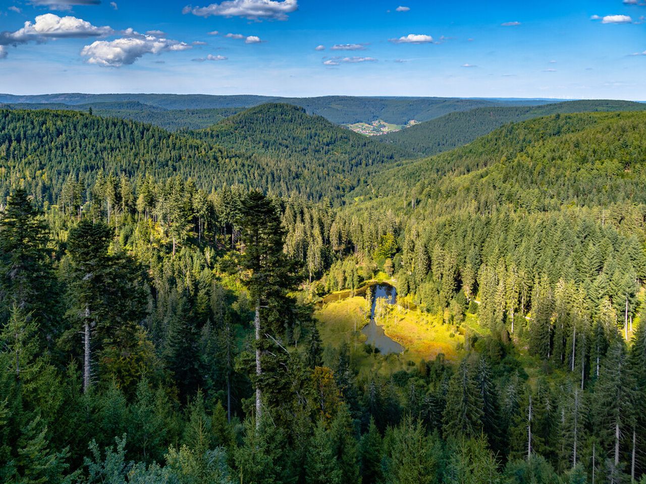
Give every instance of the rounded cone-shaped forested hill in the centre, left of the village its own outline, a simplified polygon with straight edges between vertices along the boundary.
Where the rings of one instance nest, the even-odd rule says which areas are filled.
[[[289,185],[297,181],[309,187],[308,196],[315,198],[322,187],[346,192],[360,178],[410,157],[402,148],[377,143],[322,116],[311,116],[304,108],[282,103],[249,108],[187,136],[253,154],[262,165],[281,172],[281,192],[289,193]],[[326,190],[326,195],[331,194]]]

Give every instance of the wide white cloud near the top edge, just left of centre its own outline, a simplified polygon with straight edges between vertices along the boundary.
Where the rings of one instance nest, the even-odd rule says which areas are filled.
[[[209,6],[187,5],[183,14],[193,14],[199,17],[245,17],[250,20],[287,20],[287,14],[298,9],[298,0],[227,0],[220,3],[211,3]]]

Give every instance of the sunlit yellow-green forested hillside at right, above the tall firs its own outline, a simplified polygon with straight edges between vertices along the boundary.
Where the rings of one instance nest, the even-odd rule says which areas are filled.
[[[635,177],[641,176],[645,130],[646,112],[556,114],[530,119],[498,128],[450,152],[399,163],[373,177],[370,191],[362,194],[394,195],[397,199],[406,194],[410,205],[410,197],[419,195],[426,186],[465,183],[468,186],[459,192],[463,196],[475,190],[470,184],[491,180],[492,172],[506,170],[505,183],[518,178],[516,183],[522,181],[526,189],[554,190],[567,181],[577,181],[581,183],[577,192],[581,199],[602,194],[639,197],[636,192],[619,187],[609,190],[603,185],[609,176],[617,181],[636,181]],[[622,166],[624,160],[630,160],[633,168]],[[510,172],[511,166],[516,171]],[[460,176],[471,172],[466,183]],[[550,176],[549,181],[546,176]],[[589,184],[598,191],[591,191]],[[495,188],[495,197],[503,196],[500,188]]]

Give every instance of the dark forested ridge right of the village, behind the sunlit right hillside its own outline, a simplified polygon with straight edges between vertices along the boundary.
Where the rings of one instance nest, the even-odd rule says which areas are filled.
[[[380,136],[378,139],[383,143],[401,146],[416,154],[430,156],[466,145],[506,123],[516,123],[557,113],[638,110],[646,110],[646,104],[603,99],[567,101],[542,106],[481,107],[451,112],[419,125]]]

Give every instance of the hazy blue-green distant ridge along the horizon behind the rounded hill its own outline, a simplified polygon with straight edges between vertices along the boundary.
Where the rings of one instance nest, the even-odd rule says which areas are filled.
[[[208,94],[42,94],[37,96],[14,96],[0,94],[0,103],[25,107],[26,104],[41,105],[40,108],[52,109],[87,109],[93,106],[98,114],[112,111],[117,117],[137,119],[162,126],[158,118],[149,114],[153,110],[201,110],[222,108],[249,108],[265,103],[287,103],[305,108],[307,114],[318,114],[328,121],[339,125],[353,123],[371,123],[382,119],[387,123],[405,125],[408,121],[428,121],[438,116],[454,112],[471,110],[477,107],[493,106],[526,106],[543,105],[551,101],[532,99],[461,99],[455,97],[355,97],[355,96],[322,96],[322,97],[272,97],[272,96],[211,96]],[[139,103],[136,105],[136,103]],[[129,106],[129,107],[128,107]],[[133,117],[135,106],[141,114]],[[124,110],[125,108],[125,110]],[[177,130],[186,127],[204,127],[200,116],[185,114],[179,111],[171,116],[172,123],[162,127]]]

